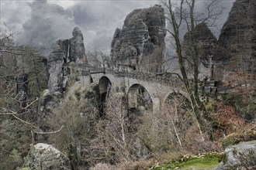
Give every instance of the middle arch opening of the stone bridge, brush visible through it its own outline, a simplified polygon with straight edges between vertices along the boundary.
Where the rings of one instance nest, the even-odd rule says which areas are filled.
[[[148,90],[140,83],[134,83],[127,92],[128,109],[143,108],[153,110],[152,97]]]

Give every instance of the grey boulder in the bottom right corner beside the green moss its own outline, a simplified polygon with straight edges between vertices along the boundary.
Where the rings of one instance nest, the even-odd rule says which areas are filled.
[[[256,141],[230,145],[224,151],[224,160],[214,170],[255,169]]]

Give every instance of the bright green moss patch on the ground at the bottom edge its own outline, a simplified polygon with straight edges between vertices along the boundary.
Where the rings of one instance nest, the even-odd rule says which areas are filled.
[[[211,169],[216,167],[221,159],[222,154],[206,154],[200,156],[189,157],[186,160],[177,162],[169,162],[168,164],[152,168],[154,170],[167,169]]]

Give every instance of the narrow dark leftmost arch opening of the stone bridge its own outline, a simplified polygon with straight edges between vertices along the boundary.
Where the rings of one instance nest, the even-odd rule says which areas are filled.
[[[99,94],[100,99],[105,101],[109,97],[109,92],[111,90],[112,83],[107,76],[102,76],[99,79]]]

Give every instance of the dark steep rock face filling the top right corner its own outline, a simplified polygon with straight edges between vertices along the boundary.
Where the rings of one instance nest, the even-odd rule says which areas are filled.
[[[216,59],[229,59],[237,53],[255,53],[255,26],[256,26],[256,1],[237,0],[231,8],[227,22],[220,32],[219,43],[230,50],[225,50],[225,56]],[[254,49],[251,47],[254,46]],[[251,55],[250,55],[251,56]],[[249,56],[248,56],[249,57]]]

